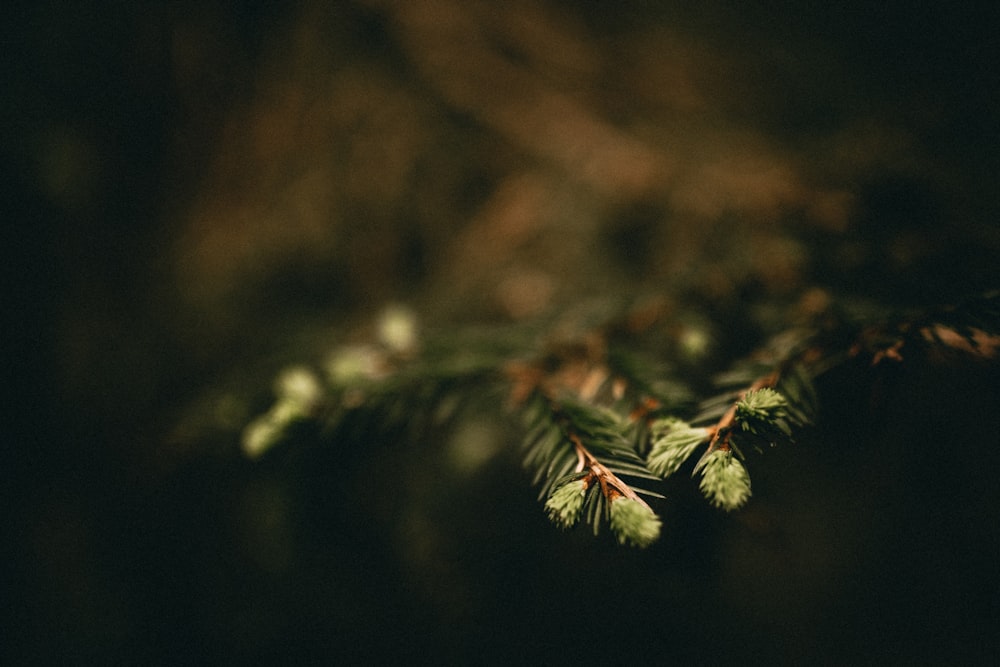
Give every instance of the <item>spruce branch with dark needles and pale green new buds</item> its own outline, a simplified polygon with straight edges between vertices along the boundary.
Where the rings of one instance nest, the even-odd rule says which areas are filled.
[[[641,332],[621,322],[525,359],[534,336],[421,338],[412,313],[394,308],[381,318],[375,343],[338,347],[322,372],[283,372],[273,406],[246,427],[243,448],[264,455],[306,420],[318,422],[331,442],[405,439],[447,423],[477,393],[496,403],[505,397],[522,417],[522,460],[549,519],[561,528],[586,523],[595,534],[609,526],[619,543],[646,547],[661,522],[640,495],[663,496],[637,482],[673,475],[703,448],[693,469],[701,492],[727,512],[742,507],[751,496],[744,452],[789,443],[812,422],[816,375],[853,357],[898,363],[917,345],[993,359],[998,301],[984,297],[971,315],[947,311],[854,331],[846,352],[824,342],[850,339],[842,333],[776,337],[719,376],[720,393],[697,410],[683,383],[661,377],[671,373],[667,364],[645,360],[655,345],[643,347]]]

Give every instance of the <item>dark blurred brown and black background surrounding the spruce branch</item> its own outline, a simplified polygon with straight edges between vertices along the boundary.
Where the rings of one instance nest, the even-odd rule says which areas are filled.
[[[997,7],[731,4],[8,8],[0,655],[995,662],[995,366],[827,379],[746,510],[680,483],[644,552],[554,530],[496,406],[240,452],[387,304],[666,297],[704,373],[816,298],[996,288]]]

